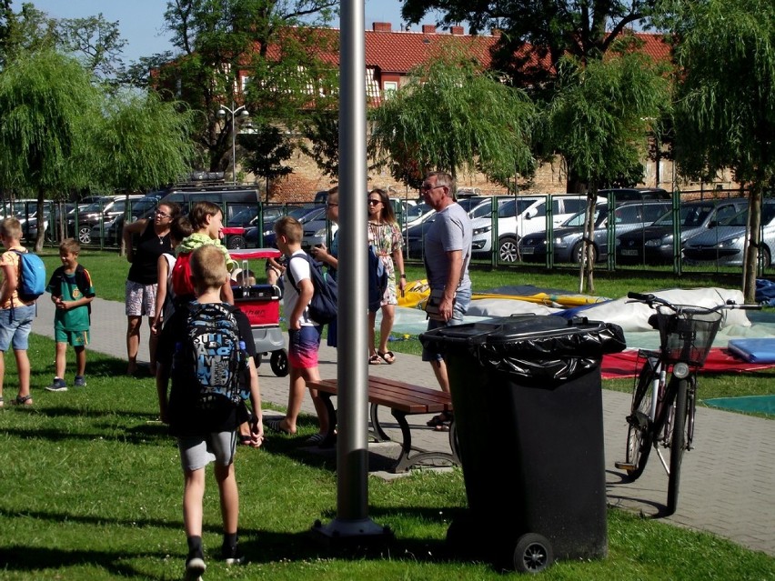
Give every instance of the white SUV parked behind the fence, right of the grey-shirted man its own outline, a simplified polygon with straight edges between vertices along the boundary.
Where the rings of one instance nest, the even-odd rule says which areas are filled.
[[[549,201],[551,205],[549,206]],[[551,208],[552,225],[560,225],[587,206],[587,196],[579,194],[517,195],[498,207],[498,259],[514,262],[520,237],[547,229],[547,208]],[[472,221],[474,255],[492,251],[492,221]]]

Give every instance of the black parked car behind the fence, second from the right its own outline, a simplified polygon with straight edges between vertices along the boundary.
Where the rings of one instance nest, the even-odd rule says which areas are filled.
[[[679,208],[679,251],[690,237],[723,222],[747,206],[748,199],[744,197],[682,203]],[[617,236],[616,262],[620,265],[672,264],[673,241],[673,211],[670,210],[652,225]]]

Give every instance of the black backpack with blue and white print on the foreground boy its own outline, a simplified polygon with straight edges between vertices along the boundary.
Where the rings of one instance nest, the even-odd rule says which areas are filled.
[[[212,407],[219,398],[234,404],[247,399],[249,382],[240,382],[247,352],[239,338],[235,307],[193,302],[187,308],[186,335],[176,344],[172,373],[193,380],[201,408]]]

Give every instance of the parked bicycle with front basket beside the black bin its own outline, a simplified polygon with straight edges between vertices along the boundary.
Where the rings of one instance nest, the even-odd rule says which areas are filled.
[[[703,307],[674,305],[659,296],[628,293],[629,302],[655,309],[649,324],[659,330],[659,350],[640,349],[636,368],[643,366],[632,392],[627,416],[626,459],[615,466],[627,472],[631,481],[643,473],[653,447],[668,473],[667,516],[678,506],[680,465],[694,439],[697,372],[719,330],[722,311],[760,309],[760,305],[726,304]],[[662,449],[669,450],[669,460]]]

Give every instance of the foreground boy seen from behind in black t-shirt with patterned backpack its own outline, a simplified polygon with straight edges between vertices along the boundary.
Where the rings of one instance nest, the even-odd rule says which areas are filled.
[[[247,316],[221,302],[228,280],[224,255],[215,245],[203,245],[190,256],[196,300],[178,306],[159,338],[156,392],[159,413],[177,438],[183,467],[183,522],[188,556],[187,581],[205,572],[202,547],[202,502],[205,468],[215,462],[215,476],[223,517],[221,558],[228,565],[242,563],[237,547],[239,495],[234,471],[237,426],[247,421],[240,379],[247,381],[253,407],[251,440],[261,446],[261,397],[253,361],[256,347]],[[167,395],[167,383],[172,389]]]

